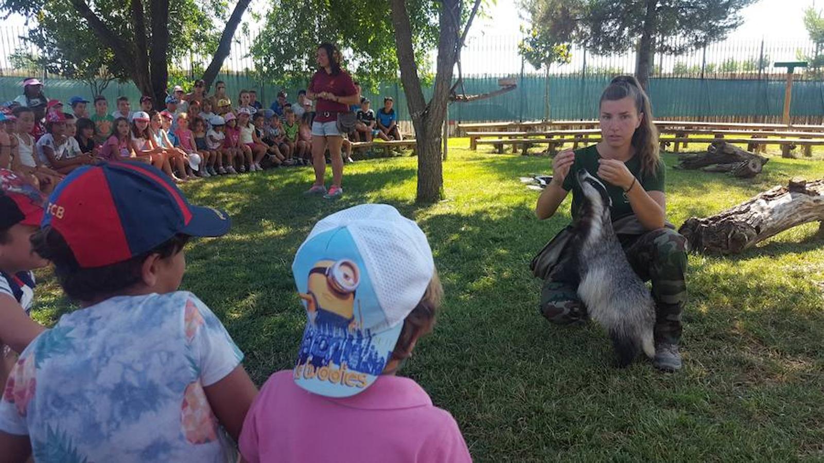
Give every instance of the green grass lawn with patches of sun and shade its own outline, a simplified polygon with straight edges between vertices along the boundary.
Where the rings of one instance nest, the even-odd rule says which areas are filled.
[[[685,367],[662,374],[611,367],[597,326],[549,325],[529,261],[569,222],[569,199],[545,222],[519,176],[549,172],[548,157],[489,154],[453,139],[447,200],[413,202],[416,158],[346,167],[346,195],[304,198],[311,169],[290,168],[187,185],[193,203],[226,209],[232,232],[187,248],[183,288],[221,317],[257,383],[290,368],[304,312],[293,255],[325,215],[390,203],[427,233],[446,289],[435,332],[401,374],[452,412],[476,461],[775,461],[824,458],[824,250],[817,224],[733,257],[690,256]],[[692,145],[691,149],[698,146]],[[675,157],[666,156],[669,166]],[[773,157],[755,180],[667,169],[668,218],[681,225],[824,162]],[[48,272],[35,318],[70,305]]]

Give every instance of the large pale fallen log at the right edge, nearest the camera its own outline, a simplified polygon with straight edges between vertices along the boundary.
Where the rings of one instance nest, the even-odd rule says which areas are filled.
[[[737,254],[789,228],[821,221],[824,179],[807,182],[797,177],[712,217],[691,217],[678,232],[691,250]]]

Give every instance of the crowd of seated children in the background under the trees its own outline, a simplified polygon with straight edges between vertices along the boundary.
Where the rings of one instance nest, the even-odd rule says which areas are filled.
[[[179,183],[311,164],[314,112],[306,91],[295,105],[280,92],[272,108],[262,110],[255,91],[243,90],[233,109],[224,82],[217,82],[214,96],[204,87],[195,82],[190,94],[175,87],[162,110],[152,96],[140,98],[138,111],[119,96],[111,113],[105,96],[74,96],[69,113],[61,101],[44,96],[37,79],[26,79],[23,95],[0,107],[0,168],[49,193],[77,167],[100,161],[152,164]],[[344,148],[344,159],[352,161],[351,143]]]

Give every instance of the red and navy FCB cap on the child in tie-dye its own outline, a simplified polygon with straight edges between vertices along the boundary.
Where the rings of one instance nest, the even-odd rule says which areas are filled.
[[[49,196],[42,227],[58,231],[90,269],[143,255],[176,234],[221,236],[227,213],[193,206],[164,174],[137,162],[83,166]]]

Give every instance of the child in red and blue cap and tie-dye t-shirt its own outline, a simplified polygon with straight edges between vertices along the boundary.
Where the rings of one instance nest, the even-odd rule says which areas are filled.
[[[32,242],[81,309],[21,353],[0,400],[0,455],[232,458],[222,429],[238,437],[255,386],[220,320],[177,291],[186,241],[229,225],[152,166],[109,162],[68,175]]]

